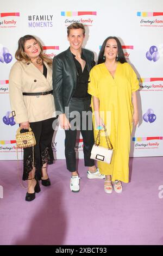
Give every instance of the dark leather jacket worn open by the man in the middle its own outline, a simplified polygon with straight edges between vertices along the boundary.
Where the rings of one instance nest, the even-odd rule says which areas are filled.
[[[95,65],[94,54],[83,48],[82,51],[90,71]],[[53,59],[53,96],[55,109],[60,112],[57,114],[65,113],[65,107],[76,90],[76,83],[77,72],[69,47]]]

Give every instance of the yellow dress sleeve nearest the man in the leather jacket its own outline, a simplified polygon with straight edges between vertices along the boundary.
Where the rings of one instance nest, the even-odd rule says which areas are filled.
[[[94,69],[90,71],[90,78],[89,78],[90,83],[88,84],[87,92],[92,96],[99,97],[98,81],[97,81],[97,77],[95,77],[95,72],[93,71]]]

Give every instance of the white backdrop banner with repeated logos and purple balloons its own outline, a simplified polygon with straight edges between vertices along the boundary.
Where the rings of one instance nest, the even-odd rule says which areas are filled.
[[[18,39],[26,34],[39,38],[44,54],[53,58],[69,46],[66,28],[72,22],[86,27],[83,47],[97,60],[106,37],[117,36],[127,61],[140,82],[139,127],[131,136],[130,156],[163,155],[163,1],[162,0],[5,0],[0,9],[0,160],[16,159],[18,125],[10,118],[9,72],[15,63]],[[54,132],[55,159],[64,159],[65,133]],[[79,134],[76,151],[83,158]],[[22,153],[20,151],[20,158]]]

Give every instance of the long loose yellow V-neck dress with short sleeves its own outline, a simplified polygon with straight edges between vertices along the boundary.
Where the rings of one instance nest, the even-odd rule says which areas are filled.
[[[130,136],[133,129],[133,104],[131,95],[139,89],[139,81],[128,63],[118,62],[114,78],[105,64],[98,64],[90,71],[88,93],[99,99],[99,111],[103,119],[114,154],[111,164],[98,161],[101,174],[111,175],[112,181],[129,182]],[[91,102],[93,111],[93,102]],[[93,115],[94,135],[95,127]],[[104,131],[101,131],[102,147],[107,148]]]

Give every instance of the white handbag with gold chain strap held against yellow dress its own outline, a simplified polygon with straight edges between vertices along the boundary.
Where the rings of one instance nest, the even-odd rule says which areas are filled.
[[[104,131],[105,131],[105,138],[106,138],[106,143],[108,145],[108,148],[99,146],[100,144],[100,130],[99,130],[95,144],[93,145],[91,150],[90,158],[95,159],[97,161],[105,162],[105,163],[111,163],[113,148],[105,127],[104,127]],[[110,147],[109,147],[109,143],[110,143]]]

